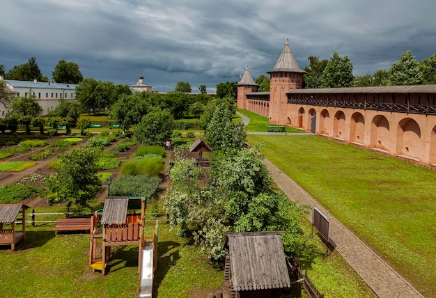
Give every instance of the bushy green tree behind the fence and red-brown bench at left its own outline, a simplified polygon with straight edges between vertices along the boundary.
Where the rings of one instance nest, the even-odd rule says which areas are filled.
[[[95,198],[100,189],[97,162],[98,153],[88,146],[73,147],[59,155],[56,173],[44,181],[47,202],[86,205]]]

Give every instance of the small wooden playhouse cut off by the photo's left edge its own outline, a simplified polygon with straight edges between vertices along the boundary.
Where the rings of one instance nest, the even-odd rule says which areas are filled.
[[[0,245],[10,245],[15,250],[15,244],[26,239],[26,210],[29,206],[24,204],[0,204]],[[18,214],[21,219],[17,219]],[[15,231],[15,220],[20,220],[22,231]]]

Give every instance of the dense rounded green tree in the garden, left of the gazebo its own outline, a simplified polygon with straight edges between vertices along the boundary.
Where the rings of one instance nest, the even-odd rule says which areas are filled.
[[[133,137],[139,143],[163,145],[173,133],[173,122],[173,116],[169,111],[148,113],[135,128]]]

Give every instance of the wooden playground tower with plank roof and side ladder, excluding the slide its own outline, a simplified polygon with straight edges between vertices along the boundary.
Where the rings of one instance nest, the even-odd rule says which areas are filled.
[[[140,214],[127,214],[129,209],[141,209]],[[112,196],[104,201],[102,218],[91,217],[89,263],[93,271],[105,273],[111,246],[139,245],[139,264],[143,237],[143,214],[146,198]],[[101,227],[100,227],[101,225]],[[138,268],[139,269],[139,268]]]

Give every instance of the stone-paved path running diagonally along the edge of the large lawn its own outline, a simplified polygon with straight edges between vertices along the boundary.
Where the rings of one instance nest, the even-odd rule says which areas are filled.
[[[379,258],[368,246],[345,228],[332,214],[304,191],[288,175],[267,159],[263,160],[272,178],[292,201],[317,207],[329,219],[329,238],[334,248],[355,269],[378,297],[423,297],[394,269]],[[311,220],[311,216],[309,217]]]

